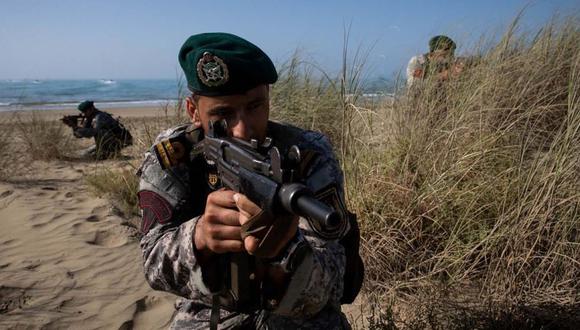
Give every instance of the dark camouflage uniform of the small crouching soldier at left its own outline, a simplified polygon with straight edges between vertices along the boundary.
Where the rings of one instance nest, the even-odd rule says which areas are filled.
[[[85,119],[82,127],[74,128],[73,134],[77,138],[94,137],[95,145],[83,151],[87,158],[109,158],[132,142],[128,131],[113,116],[97,109]]]

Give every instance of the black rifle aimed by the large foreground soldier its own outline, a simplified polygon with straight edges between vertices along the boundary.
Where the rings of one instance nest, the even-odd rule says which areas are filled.
[[[326,228],[340,225],[339,213],[314,198],[305,185],[297,182],[300,164],[297,146],[292,146],[287,155],[282,156],[269,138],[259,145],[256,140],[247,142],[229,137],[227,123],[223,120],[210,122],[202,145],[205,158],[216,168],[222,186],[246,195],[265,212],[292,213],[317,221]],[[231,253],[227,259],[221,288],[214,292],[214,309],[216,304],[219,308],[220,303],[239,312],[262,308],[261,283],[253,269],[256,260],[247,253]]]

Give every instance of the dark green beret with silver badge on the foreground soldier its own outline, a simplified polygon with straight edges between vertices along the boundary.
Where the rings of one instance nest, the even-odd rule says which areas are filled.
[[[179,51],[179,64],[189,90],[205,96],[242,94],[278,79],[268,55],[229,33],[189,37]]]

